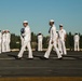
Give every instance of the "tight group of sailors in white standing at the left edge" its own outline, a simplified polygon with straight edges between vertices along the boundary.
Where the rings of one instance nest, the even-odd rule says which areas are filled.
[[[0,30],[0,54],[10,52],[11,33],[9,30]]]

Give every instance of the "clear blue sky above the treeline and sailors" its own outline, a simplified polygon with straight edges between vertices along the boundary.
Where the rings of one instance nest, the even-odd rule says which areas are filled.
[[[0,0],[0,30],[19,35],[23,22],[28,21],[31,31],[49,35],[49,22],[55,21],[67,32],[82,33],[82,0]]]

